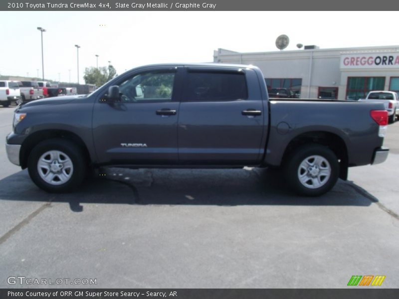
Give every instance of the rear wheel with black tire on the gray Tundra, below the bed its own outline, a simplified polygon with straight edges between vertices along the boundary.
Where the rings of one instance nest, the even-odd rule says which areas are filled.
[[[322,157],[321,160],[323,162],[316,168],[324,168],[323,171],[330,172],[329,176],[324,175],[324,172],[322,173],[321,170],[319,170],[320,174],[310,173],[308,169],[304,170],[301,163],[305,162],[306,159],[312,161],[310,158],[311,156]],[[327,160],[328,163],[326,163],[325,160]],[[314,167],[310,164],[306,165]],[[312,171],[317,172],[317,169],[312,169]],[[287,162],[284,165],[284,173],[288,184],[297,194],[304,196],[320,196],[329,191],[336,184],[339,176],[339,162],[337,156],[331,149],[317,144],[307,144],[295,149],[289,154]],[[308,178],[307,181],[303,183],[299,179],[301,173],[303,173],[302,177],[304,180]],[[313,177],[311,176],[312,174],[320,176]],[[313,185],[314,179],[316,180],[316,185]],[[320,183],[320,187],[317,187],[318,183]]]

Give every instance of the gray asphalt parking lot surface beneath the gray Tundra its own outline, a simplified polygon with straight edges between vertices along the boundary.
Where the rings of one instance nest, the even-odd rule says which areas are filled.
[[[0,288],[345,288],[353,275],[399,287],[399,122],[385,163],[319,198],[256,168],[110,168],[54,195],[6,157],[13,110],[0,108]]]

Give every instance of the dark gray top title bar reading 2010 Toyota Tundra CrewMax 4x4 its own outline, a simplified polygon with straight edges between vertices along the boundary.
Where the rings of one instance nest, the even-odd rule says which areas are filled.
[[[157,10],[398,10],[399,1],[392,0],[1,0],[0,10],[8,11],[157,11]],[[284,18],[281,21],[285,21]],[[300,21],[300,15],[298,15]],[[342,20],[337,18],[326,22]],[[365,22],[370,21],[365,19]]]

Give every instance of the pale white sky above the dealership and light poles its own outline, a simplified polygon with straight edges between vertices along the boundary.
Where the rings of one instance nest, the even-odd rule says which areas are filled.
[[[0,74],[41,77],[40,32],[44,76],[77,81],[85,67],[108,61],[119,74],[125,69],[162,62],[210,62],[213,50],[275,51],[280,34],[321,48],[399,45],[397,12],[362,11],[0,11]]]

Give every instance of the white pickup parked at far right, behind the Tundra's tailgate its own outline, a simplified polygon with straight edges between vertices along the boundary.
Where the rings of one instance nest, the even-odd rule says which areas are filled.
[[[383,103],[388,111],[390,124],[394,123],[399,115],[399,98],[394,91],[375,90],[369,92],[366,99],[359,99],[359,102]]]

